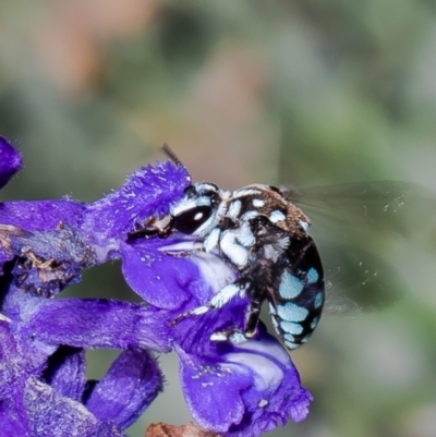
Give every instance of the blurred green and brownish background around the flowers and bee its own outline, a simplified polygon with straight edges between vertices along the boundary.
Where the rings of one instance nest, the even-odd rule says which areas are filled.
[[[228,189],[376,179],[436,187],[436,3],[2,1],[0,133],[26,166],[2,199],[96,199],[162,159],[162,143],[195,180]],[[402,270],[407,299],[371,315],[326,316],[292,353],[315,401],[305,422],[271,435],[436,435],[427,243],[379,251]],[[69,293],[135,299],[118,264]],[[114,354],[88,356],[98,377]],[[161,363],[166,391],[132,437],[152,422],[190,420],[177,357]]]

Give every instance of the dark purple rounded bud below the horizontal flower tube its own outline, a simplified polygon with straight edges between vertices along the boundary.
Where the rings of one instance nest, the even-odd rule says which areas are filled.
[[[145,351],[125,351],[93,390],[86,406],[121,429],[133,424],[162,390],[156,360]]]

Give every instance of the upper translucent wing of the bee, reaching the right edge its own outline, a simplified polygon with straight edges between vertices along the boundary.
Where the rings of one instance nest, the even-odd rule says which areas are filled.
[[[423,227],[436,224],[436,194],[419,184],[402,181],[374,181],[282,190],[286,198],[307,214],[313,223],[311,233],[329,231],[331,223],[350,240],[351,228],[370,230],[373,234],[408,238]]]

